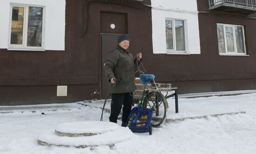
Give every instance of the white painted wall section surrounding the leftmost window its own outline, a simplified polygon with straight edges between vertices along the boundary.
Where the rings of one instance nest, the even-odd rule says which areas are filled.
[[[8,47],[11,3],[45,7],[45,50],[65,50],[65,0],[0,0],[0,48]]]

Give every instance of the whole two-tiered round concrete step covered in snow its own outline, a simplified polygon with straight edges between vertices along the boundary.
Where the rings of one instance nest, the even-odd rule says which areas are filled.
[[[128,127],[119,127],[113,122],[76,121],[59,125],[55,133],[50,130],[40,134],[37,142],[42,146],[113,147],[115,143],[129,140],[133,136]]]

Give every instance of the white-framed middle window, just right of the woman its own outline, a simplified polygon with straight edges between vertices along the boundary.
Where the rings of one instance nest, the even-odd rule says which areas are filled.
[[[186,52],[184,20],[165,20],[167,52]]]

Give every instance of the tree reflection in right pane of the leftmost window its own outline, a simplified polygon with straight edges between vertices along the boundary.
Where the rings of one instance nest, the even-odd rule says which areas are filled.
[[[28,7],[27,46],[42,46],[43,8]]]

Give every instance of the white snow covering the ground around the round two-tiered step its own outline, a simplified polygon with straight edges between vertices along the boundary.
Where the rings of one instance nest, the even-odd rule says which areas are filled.
[[[168,118],[172,119],[240,111],[246,114],[164,124],[153,128],[152,135],[136,134],[137,137],[116,143],[111,149],[108,146],[74,148],[40,146],[37,137],[61,123],[99,121],[100,108],[78,103],[0,107],[0,113],[9,112],[0,114],[0,154],[255,154],[255,93],[182,98],[178,114],[175,114],[174,99],[168,99],[168,103]],[[108,116],[105,112],[103,120],[108,121]]]

